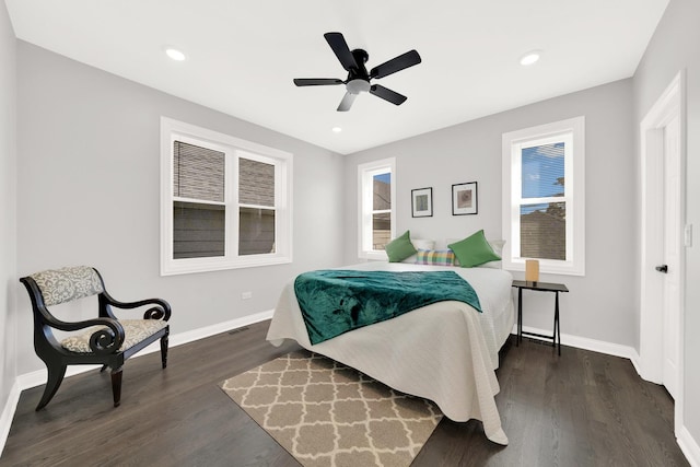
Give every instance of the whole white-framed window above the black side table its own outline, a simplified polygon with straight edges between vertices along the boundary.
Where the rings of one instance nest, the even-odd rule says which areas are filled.
[[[503,135],[503,265],[583,276],[584,117]]]

